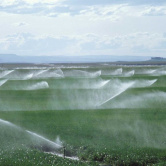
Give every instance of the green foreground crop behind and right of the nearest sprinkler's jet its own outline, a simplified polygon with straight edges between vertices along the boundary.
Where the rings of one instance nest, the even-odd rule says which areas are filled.
[[[83,164],[81,161],[115,165],[166,162],[164,109],[1,112],[0,117],[52,141],[60,136],[67,155],[80,158],[78,165]],[[36,150],[28,147],[28,151],[36,156]]]

